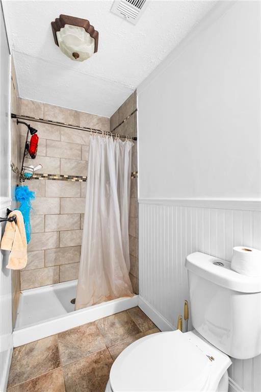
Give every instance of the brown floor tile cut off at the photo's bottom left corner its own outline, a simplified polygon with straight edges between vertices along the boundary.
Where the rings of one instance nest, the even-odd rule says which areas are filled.
[[[16,385],[8,392],[65,392],[62,368]]]

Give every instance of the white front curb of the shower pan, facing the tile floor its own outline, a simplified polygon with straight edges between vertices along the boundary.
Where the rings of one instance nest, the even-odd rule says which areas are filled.
[[[42,339],[43,337],[54,335],[70,328],[79,327],[80,325],[122,312],[137,305],[138,296],[119,298],[85,309],[76,310],[63,316],[31,325],[30,327],[15,329],[13,332],[14,347],[25,345],[31,341]]]

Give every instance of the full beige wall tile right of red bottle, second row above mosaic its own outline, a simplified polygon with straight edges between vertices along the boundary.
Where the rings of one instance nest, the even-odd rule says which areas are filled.
[[[66,141],[46,140],[46,156],[81,160],[82,145]]]

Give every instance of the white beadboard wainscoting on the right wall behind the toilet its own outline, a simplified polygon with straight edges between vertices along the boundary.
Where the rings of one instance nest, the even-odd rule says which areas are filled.
[[[139,200],[140,300],[173,329],[188,299],[186,256],[231,260],[234,246],[261,249],[259,201]],[[162,325],[161,325],[162,326]],[[160,326],[160,327],[161,327]],[[191,326],[190,326],[191,327]],[[232,359],[230,392],[260,392],[261,355]]]

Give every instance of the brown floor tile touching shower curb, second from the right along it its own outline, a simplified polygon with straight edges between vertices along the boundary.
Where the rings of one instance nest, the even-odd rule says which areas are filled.
[[[101,318],[95,323],[105,338],[107,347],[141,332],[126,311]]]

